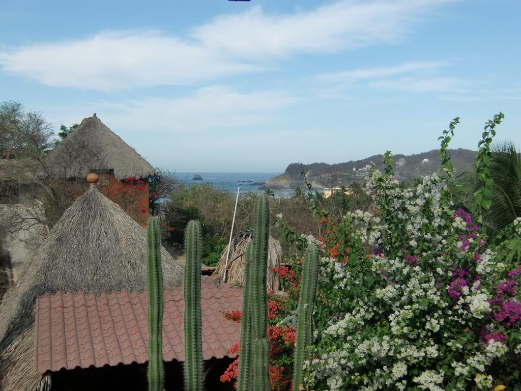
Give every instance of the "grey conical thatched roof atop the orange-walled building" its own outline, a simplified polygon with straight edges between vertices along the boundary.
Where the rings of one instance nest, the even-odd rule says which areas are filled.
[[[47,162],[60,176],[65,171],[67,178],[81,178],[106,169],[113,169],[117,179],[146,178],[155,172],[150,163],[107,128],[96,114],[84,118],[49,154]]]

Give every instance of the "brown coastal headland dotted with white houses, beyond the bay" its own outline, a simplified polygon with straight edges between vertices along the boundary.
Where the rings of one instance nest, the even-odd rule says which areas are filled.
[[[476,151],[458,148],[450,150],[450,153],[456,171],[468,170],[476,161]],[[338,164],[291,163],[283,174],[268,179],[262,189],[292,189],[296,186],[303,186],[302,171],[306,173],[307,180],[316,189],[348,186],[353,181],[364,181],[367,172],[365,167],[371,162],[374,162],[376,167],[381,170],[383,168],[382,157],[383,155],[373,155],[362,160]],[[413,155],[397,154],[394,155],[393,160],[396,179],[400,181],[428,175],[438,170],[440,166],[437,149]]]

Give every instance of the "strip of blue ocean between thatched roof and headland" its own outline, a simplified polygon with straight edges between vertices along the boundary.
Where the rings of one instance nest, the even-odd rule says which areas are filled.
[[[194,180],[195,174],[199,174],[203,179]],[[237,192],[237,187],[241,188],[241,193],[246,191],[264,192],[258,190],[259,187],[269,178],[279,175],[280,173],[175,173],[177,179],[187,186],[209,184],[217,189]],[[262,183],[261,183],[262,182]],[[277,197],[288,197],[293,191],[274,190]]]

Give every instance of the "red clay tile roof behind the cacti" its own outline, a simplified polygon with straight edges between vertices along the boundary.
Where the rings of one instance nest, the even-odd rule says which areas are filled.
[[[222,312],[239,310],[242,291],[201,284],[203,359],[234,357],[227,351],[238,343],[241,327]],[[36,372],[94,365],[144,363],[148,360],[148,297],[142,293],[58,292],[36,298],[34,355]],[[184,361],[183,288],[165,291],[163,358]]]

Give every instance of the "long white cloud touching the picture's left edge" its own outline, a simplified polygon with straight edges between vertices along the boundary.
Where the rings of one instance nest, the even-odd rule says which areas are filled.
[[[102,32],[0,53],[7,72],[56,87],[110,90],[183,84],[255,69],[157,31]]]

